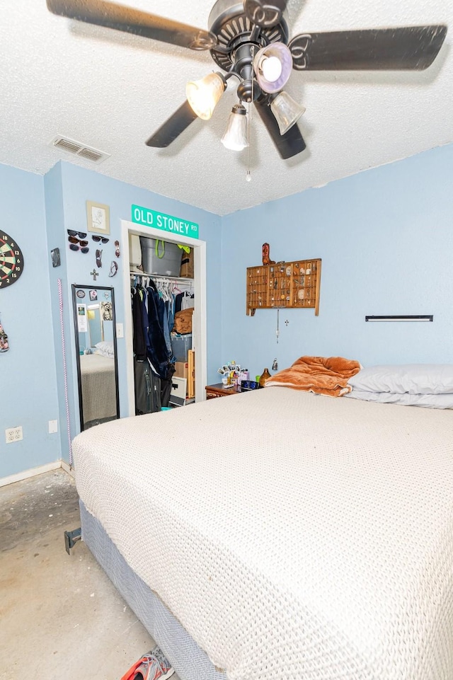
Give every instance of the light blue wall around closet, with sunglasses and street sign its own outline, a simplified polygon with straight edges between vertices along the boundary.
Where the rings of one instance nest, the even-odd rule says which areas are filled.
[[[115,289],[115,311],[117,323],[124,322],[125,309],[122,291],[121,267],[125,265],[122,256],[118,262],[118,272],[115,277],[108,276],[110,263],[115,258],[115,240],[120,239],[121,220],[131,219],[132,204],[149,207],[159,212],[183,217],[200,225],[199,238],[207,243],[207,374],[208,381],[215,379],[220,360],[220,320],[221,315],[221,241],[222,221],[217,215],[195,208],[188,204],[154,194],[145,189],[139,189],[130,184],[113,180],[94,171],[59,163],[62,177],[64,224],[61,226],[64,241],[67,241],[67,229],[86,231],[86,200],[103,203],[110,207],[110,241],[105,245],[93,243],[91,233],[88,233],[89,253],[86,255],[69,250],[67,243],[64,248],[67,254],[67,289],[70,294],[71,284],[91,285],[93,277],[90,272],[93,267],[100,272],[96,284],[113,286]],[[101,269],[96,266],[96,249],[102,249]],[[129,263],[126,263],[129,267]],[[117,339],[118,371],[120,388],[120,413],[127,415],[127,384],[126,384],[126,350],[125,340]],[[74,328],[71,317],[71,371],[76,375],[76,354],[74,346]],[[72,385],[74,401],[77,400],[77,387]],[[78,432],[78,426],[76,431]]]

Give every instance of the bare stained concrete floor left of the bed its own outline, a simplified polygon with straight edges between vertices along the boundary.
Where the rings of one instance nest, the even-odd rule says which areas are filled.
[[[61,469],[0,488],[0,680],[120,680],[154,647],[85,544],[65,551],[78,526]]]

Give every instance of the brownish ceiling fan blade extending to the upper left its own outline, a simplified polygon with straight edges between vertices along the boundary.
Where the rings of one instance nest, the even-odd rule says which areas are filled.
[[[170,42],[190,50],[211,50],[217,38],[201,28],[104,0],[47,0],[47,9],[69,19]]]

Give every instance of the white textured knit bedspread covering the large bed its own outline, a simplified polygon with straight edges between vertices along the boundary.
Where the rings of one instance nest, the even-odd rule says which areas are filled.
[[[93,427],[74,458],[231,680],[453,679],[452,410],[273,387]]]

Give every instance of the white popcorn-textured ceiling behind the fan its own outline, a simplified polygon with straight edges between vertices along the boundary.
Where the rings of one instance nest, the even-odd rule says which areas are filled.
[[[207,28],[213,3],[122,4]],[[223,215],[453,142],[453,2],[289,0],[288,11],[291,35],[428,23],[446,23],[449,33],[426,71],[293,71],[285,89],[306,107],[307,150],[283,161],[258,115],[249,152],[224,149],[231,81],[212,120],[195,120],[168,149],[145,146],[185,100],[188,79],[214,69],[209,52],[53,16],[45,0],[4,0],[0,162],[44,174],[64,159]],[[57,134],[111,156],[96,166],[50,148]]]

